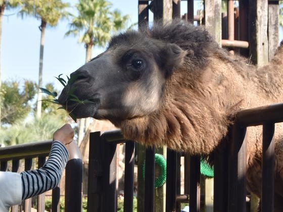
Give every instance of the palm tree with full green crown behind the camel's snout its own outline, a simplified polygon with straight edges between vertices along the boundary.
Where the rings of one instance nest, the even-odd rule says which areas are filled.
[[[113,32],[125,28],[129,17],[122,16],[118,10],[111,11],[111,7],[107,0],[79,0],[76,5],[78,15],[73,17],[66,36],[81,35],[79,42],[84,43],[86,63],[92,58],[93,46],[104,47]],[[88,125],[89,119],[79,120],[78,142],[82,140]]]

